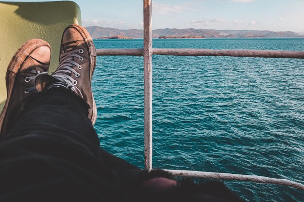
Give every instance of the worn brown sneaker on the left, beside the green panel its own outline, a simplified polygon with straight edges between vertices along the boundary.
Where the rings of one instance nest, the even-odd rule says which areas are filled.
[[[7,99],[0,115],[0,139],[3,139],[16,123],[24,104],[31,94],[37,92],[35,78],[48,74],[51,46],[32,39],[15,53],[6,72]]]

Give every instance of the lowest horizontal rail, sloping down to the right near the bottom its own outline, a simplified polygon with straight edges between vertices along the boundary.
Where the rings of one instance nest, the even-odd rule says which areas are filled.
[[[169,171],[175,176],[250,181],[250,182],[255,182],[255,183],[267,183],[267,184],[291,186],[294,188],[304,190],[304,185],[301,183],[293,182],[293,181],[286,180],[286,179],[262,177],[262,176],[257,176],[257,175],[241,175],[241,174],[231,174],[231,173],[222,173],[222,172],[183,171],[183,170],[165,170],[165,171]]]

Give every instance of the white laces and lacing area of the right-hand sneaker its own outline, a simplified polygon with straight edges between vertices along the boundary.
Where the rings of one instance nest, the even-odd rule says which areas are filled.
[[[57,70],[51,75],[53,78],[57,78],[62,83],[64,83],[66,88],[70,88],[72,91],[79,94],[82,98],[82,95],[79,88],[77,88],[77,80],[71,77],[71,74],[75,74],[76,78],[80,77],[80,74],[73,68],[73,65],[77,67],[77,69],[81,70],[82,66],[74,61],[74,57],[77,57],[80,61],[83,61],[84,58],[79,54],[84,52],[83,49],[75,49],[63,53],[61,55],[61,60],[59,62],[59,66]],[[60,85],[60,84],[59,84]]]

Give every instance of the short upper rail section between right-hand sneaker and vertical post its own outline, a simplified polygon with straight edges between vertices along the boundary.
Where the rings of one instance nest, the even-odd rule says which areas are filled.
[[[114,49],[96,49],[97,55],[132,55],[143,56],[143,48],[114,48]]]

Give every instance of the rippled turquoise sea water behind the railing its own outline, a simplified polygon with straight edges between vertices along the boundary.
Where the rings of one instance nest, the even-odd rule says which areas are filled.
[[[304,50],[304,39],[154,39],[153,47]],[[152,66],[153,168],[304,184],[304,60],[154,55]],[[143,57],[98,57],[92,85],[101,147],[143,168]],[[304,191],[286,186],[225,183],[248,201],[304,202]]]

